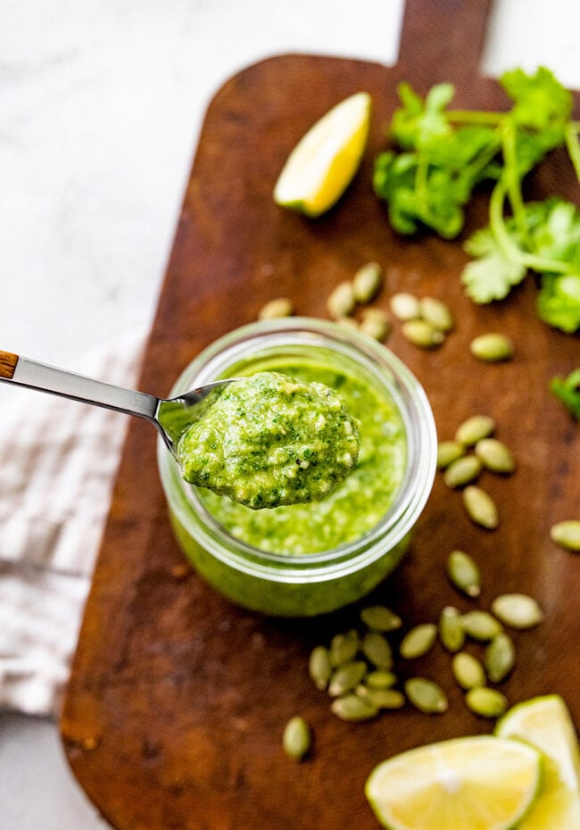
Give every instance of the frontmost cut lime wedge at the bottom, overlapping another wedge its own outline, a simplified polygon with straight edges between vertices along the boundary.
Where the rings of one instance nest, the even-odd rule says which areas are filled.
[[[541,761],[526,743],[454,738],[379,764],[366,794],[389,830],[510,830],[534,802]]]

